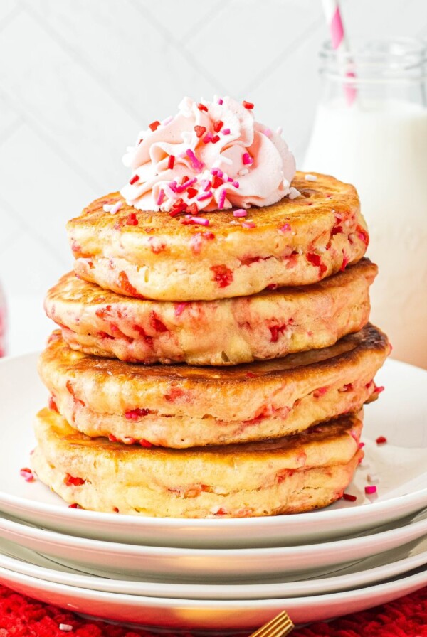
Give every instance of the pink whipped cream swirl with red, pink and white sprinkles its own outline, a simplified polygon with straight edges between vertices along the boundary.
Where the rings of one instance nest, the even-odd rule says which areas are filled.
[[[127,149],[132,178],[120,191],[139,210],[172,215],[270,205],[290,193],[295,159],[278,132],[255,122],[253,104],[194,102],[152,122]]]

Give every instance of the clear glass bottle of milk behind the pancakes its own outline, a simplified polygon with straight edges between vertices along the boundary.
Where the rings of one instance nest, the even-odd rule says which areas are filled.
[[[393,355],[427,368],[426,44],[374,41],[321,52],[323,95],[307,172],[354,183],[379,265],[371,321]]]

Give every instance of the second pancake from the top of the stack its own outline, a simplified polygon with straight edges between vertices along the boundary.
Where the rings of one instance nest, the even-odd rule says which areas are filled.
[[[46,314],[68,345],[139,363],[236,365],[331,346],[369,318],[368,259],[307,287],[219,301],[141,301],[65,274]]]

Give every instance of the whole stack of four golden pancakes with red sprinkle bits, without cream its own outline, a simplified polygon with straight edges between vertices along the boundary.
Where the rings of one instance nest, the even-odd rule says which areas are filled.
[[[196,518],[342,496],[390,346],[367,323],[376,266],[356,191],[292,185],[293,200],[204,213],[209,226],[118,193],[68,223],[75,273],[46,297],[60,331],[32,456],[65,501]]]

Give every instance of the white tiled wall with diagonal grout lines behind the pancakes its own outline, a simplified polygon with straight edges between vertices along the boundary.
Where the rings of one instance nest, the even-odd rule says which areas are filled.
[[[342,9],[351,38],[427,35],[426,0]],[[320,0],[1,0],[0,280],[12,304],[40,305],[70,268],[65,221],[125,181],[125,146],[183,95],[255,102],[300,159],[326,37]]]

